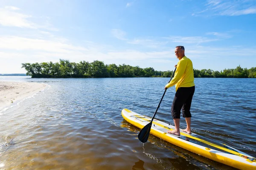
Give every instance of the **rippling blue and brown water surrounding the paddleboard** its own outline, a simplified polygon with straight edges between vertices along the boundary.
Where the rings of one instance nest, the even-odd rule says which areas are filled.
[[[0,169],[234,169],[155,136],[137,139],[140,129],[122,109],[153,116],[169,78],[3,80],[49,86],[0,112]],[[256,79],[196,78],[195,85],[192,132],[256,157]],[[174,94],[167,90],[155,117],[172,125]]]

